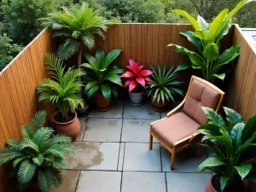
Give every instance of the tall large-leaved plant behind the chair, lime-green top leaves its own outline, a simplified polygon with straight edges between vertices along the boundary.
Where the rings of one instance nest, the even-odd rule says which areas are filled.
[[[243,0],[236,5],[236,8],[230,11],[224,9],[212,21],[211,25],[207,23],[200,15],[197,20],[190,16],[186,11],[175,9],[172,12],[185,17],[192,26],[195,32],[180,32],[189,42],[195,45],[196,51],[192,51],[179,46],[177,44],[169,44],[168,46],[175,46],[175,51],[179,54],[186,55],[191,61],[191,66],[199,69],[202,76],[207,81],[213,82],[216,78],[224,80],[226,71],[224,66],[233,61],[238,55],[240,46],[235,45],[230,49],[220,52],[220,40],[230,31],[230,24],[232,17],[239,11],[246,3],[255,0]]]

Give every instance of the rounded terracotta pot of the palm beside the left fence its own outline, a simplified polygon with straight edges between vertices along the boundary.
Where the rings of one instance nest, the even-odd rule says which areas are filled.
[[[77,113],[69,113],[67,119],[63,119],[60,111],[53,115],[53,127],[56,134],[71,137],[73,141],[79,136],[81,129]]]

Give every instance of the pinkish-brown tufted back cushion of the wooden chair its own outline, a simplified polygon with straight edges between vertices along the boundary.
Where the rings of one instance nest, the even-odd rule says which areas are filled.
[[[192,79],[189,95],[184,103],[183,112],[195,119],[199,124],[207,124],[208,119],[201,107],[217,107],[219,93],[198,79]]]

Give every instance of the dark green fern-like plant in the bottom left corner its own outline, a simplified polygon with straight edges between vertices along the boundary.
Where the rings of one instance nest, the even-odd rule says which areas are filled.
[[[43,192],[62,184],[61,171],[67,168],[65,157],[74,151],[70,137],[55,135],[44,127],[46,112],[35,114],[30,125],[22,126],[22,139],[7,141],[0,149],[0,165],[12,162],[10,177],[17,177],[18,189],[26,191],[30,183],[38,182]]]

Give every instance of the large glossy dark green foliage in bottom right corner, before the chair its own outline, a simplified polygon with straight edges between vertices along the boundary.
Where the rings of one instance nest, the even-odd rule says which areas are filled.
[[[256,183],[256,173],[251,172],[256,165],[256,115],[243,121],[239,113],[224,108],[226,119],[222,119],[211,108],[202,109],[209,124],[201,125],[198,132],[204,135],[202,141],[213,143],[214,147],[202,145],[214,153],[198,166],[196,172],[217,173],[222,191],[230,191],[230,186],[245,177]]]

